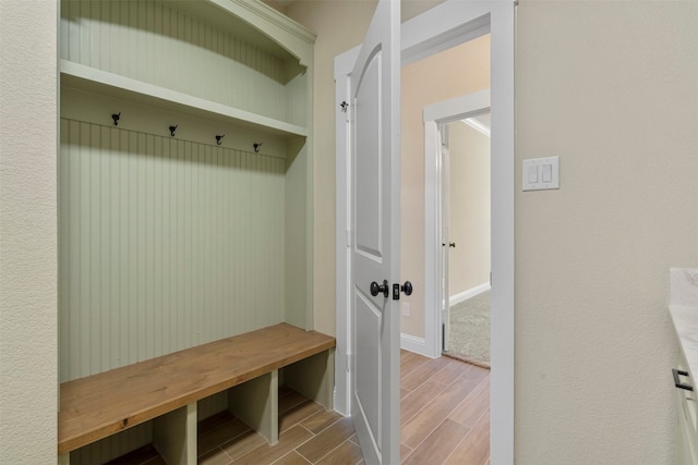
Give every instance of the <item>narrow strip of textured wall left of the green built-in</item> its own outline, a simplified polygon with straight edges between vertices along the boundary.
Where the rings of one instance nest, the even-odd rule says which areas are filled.
[[[56,462],[57,4],[0,1],[0,463]]]

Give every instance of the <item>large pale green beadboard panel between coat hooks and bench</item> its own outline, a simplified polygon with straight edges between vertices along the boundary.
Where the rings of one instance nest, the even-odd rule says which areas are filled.
[[[60,379],[285,319],[286,160],[61,119]]]

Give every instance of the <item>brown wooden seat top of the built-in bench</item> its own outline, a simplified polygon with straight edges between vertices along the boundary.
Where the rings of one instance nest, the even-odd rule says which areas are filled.
[[[68,381],[60,387],[63,454],[335,346],[280,323]]]

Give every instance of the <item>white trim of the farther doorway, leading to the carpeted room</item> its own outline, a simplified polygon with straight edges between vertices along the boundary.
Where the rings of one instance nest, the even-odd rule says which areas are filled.
[[[438,125],[490,109],[490,90],[468,94],[424,107],[424,348],[429,357],[443,347],[442,299],[442,158]],[[492,174],[492,178],[495,173]],[[494,233],[494,230],[491,234]],[[496,243],[492,237],[492,243]],[[494,334],[493,334],[494,335]]]

